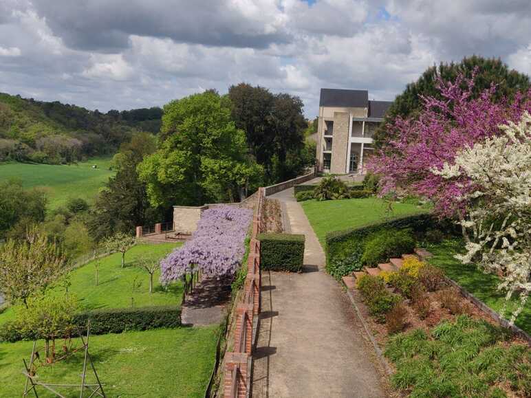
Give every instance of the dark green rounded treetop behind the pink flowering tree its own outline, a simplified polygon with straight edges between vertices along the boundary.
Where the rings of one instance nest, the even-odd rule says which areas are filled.
[[[507,98],[512,100],[517,91],[525,92],[531,87],[529,76],[521,74],[503,63],[499,58],[483,58],[470,56],[463,58],[460,63],[440,63],[437,67],[429,67],[416,82],[407,85],[403,93],[399,94],[380,124],[374,135],[376,148],[382,148],[385,143],[392,140],[393,135],[387,130],[387,124],[393,123],[396,118],[415,117],[422,110],[422,97],[431,96],[442,99],[440,90],[437,89],[437,78],[444,81],[455,82],[459,74],[466,78],[472,78],[475,74],[475,87],[473,98],[488,89],[492,84],[496,85],[494,100]],[[463,87],[464,88],[464,87]]]

